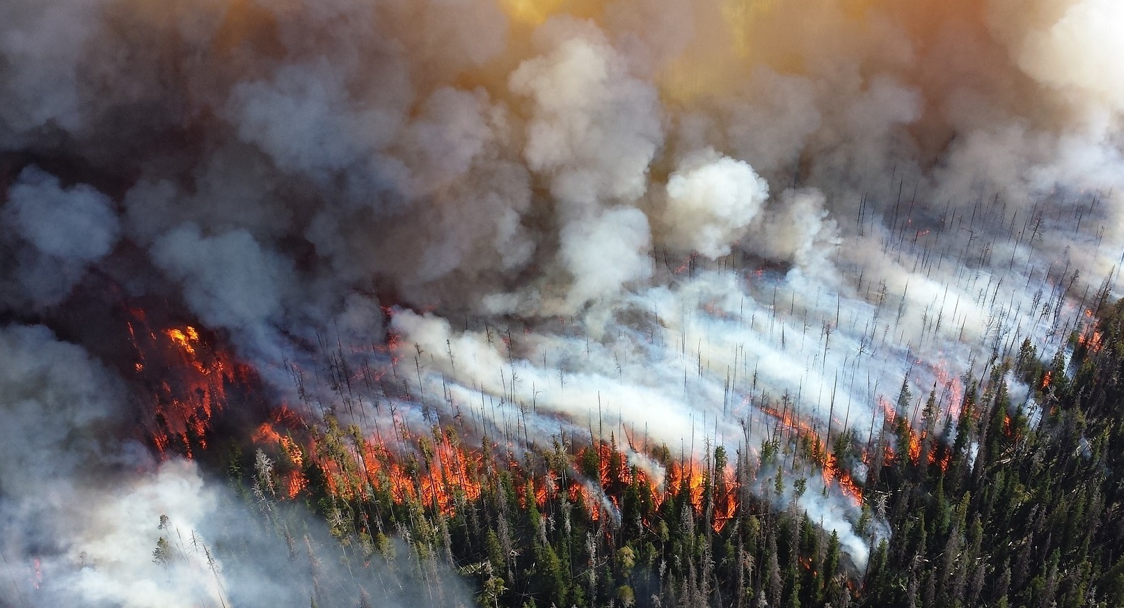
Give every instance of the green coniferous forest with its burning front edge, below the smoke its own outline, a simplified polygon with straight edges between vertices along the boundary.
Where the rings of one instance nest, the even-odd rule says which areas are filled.
[[[555,437],[515,456],[487,437],[466,445],[455,424],[396,428],[415,454],[402,460],[328,414],[326,430],[263,425],[270,448],[232,448],[229,483],[290,545],[284,512],[303,502],[342,563],[383,560],[416,582],[404,597],[434,602],[452,601],[438,571],[453,570],[495,608],[1121,606],[1124,301],[1096,316],[1063,352],[1027,339],[966,378],[955,419],[903,384],[869,445],[778,424],[772,441],[706,462],[629,447],[667,471],[656,483],[627,463],[627,439]],[[1024,402],[1010,373],[1037,388]],[[865,563],[773,500],[826,483],[861,509]]]

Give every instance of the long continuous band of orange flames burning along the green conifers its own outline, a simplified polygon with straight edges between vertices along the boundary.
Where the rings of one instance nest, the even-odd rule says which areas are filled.
[[[554,470],[532,471],[515,461],[486,455],[466,447],[451,430],[435,430],[435,437],[407,437],[399,447],[391,448],[373,437],[362,437],[355,427],[342,430],[333,420],[326,432],[319,433],[298,428],[291,418],[285,418],[280,415],[263,423],[253,441],[278,456],[278,468],[270,474],[289,499],[315,491],[310,480],[320,479],[324,491],[337,500],[384,499],[398,506],[417,503],[452,516],[466,502],[478,500],[486,487],[493,483],[488,474],[490,468],[502,466],[524,507],[527,498],[546,508],[564,496],[570,503],[580,505],[595,521],[604,517],[606,509],[619,517],[629,488],[642,492],[641,500],[656,508],[682,498],[699,517],[707,512],[709,496],[713,501],[709,523],[715,532],[720,532],[738,512],[738,484],[728,465],[715,474],[698,462],[671,463],[663,482],[656,484],[642,470],[627,466],[623,452],[600,443],[579,450],[560,482]],[[597,475],[581,473],[590,469]],[[845,488],[853,487],[850,475],[844,474],[841,480]]]

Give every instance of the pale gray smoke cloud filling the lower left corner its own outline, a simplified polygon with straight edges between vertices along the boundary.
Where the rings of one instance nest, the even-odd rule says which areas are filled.
[[[45,327],[0,330],[0,606],[471,604],[439,568],[411,580],[294,505],[265,494],[252,514],[196,463],[157,462],[121,438],[120,381]],[[341,559],[371,565],[327,565]]]

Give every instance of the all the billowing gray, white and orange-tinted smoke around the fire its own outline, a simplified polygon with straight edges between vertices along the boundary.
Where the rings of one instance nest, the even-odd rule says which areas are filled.
[[[149,601],[149,519],[218,500],[127,439],[107,290],[228,336],[274,402],[338,344],[392,378],[356,423],[690,459],[755,451],[778,402],[868,441],[903,379],[949,412],[1118,294],[1122,28],[1113,0],[4,2],[0,589],[43,556],[48,605]],[[837,488],[800,506],[865,559]],[[237,593],[192,555],[162,605]]]

